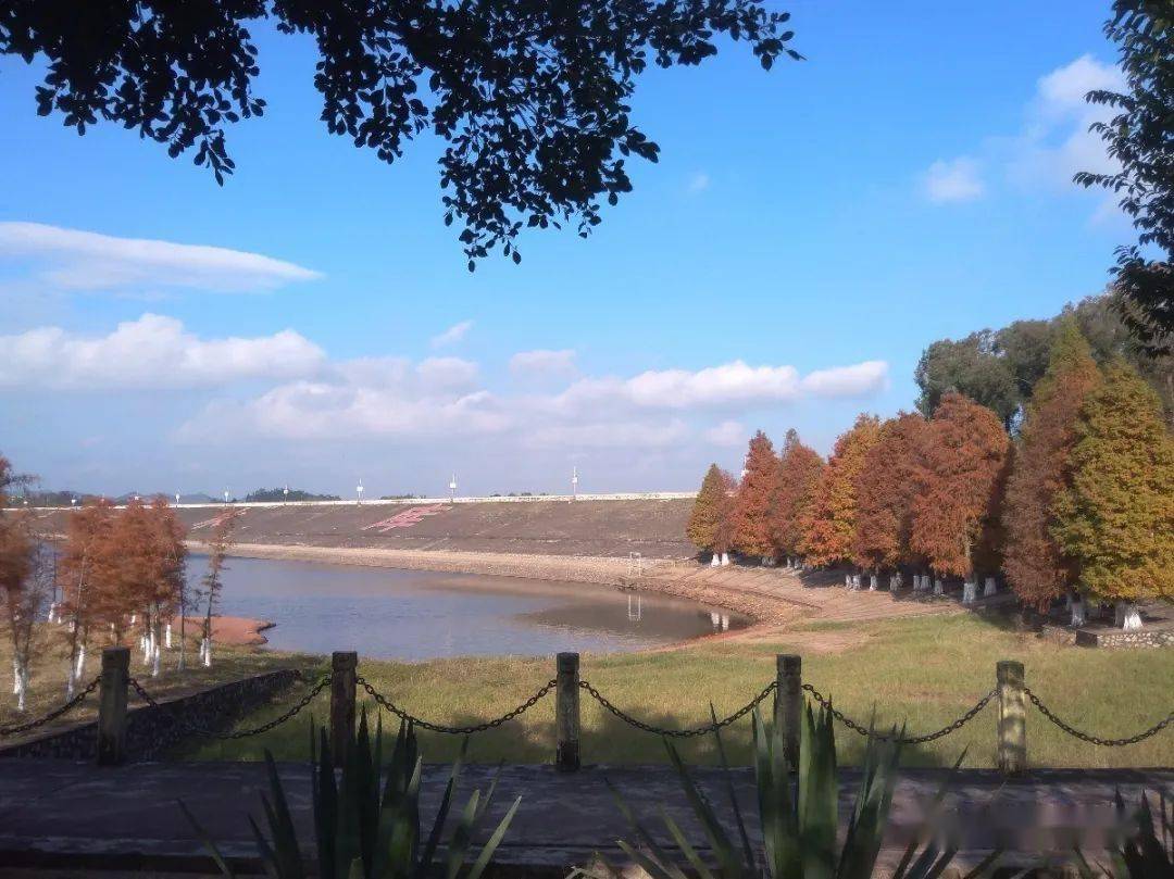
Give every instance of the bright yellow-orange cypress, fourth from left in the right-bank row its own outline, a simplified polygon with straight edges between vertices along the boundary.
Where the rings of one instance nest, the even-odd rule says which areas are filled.
[[[811,564],[835,564],[851,557],[856,533],[856,495],[864,459],[880,435],[880,420],[861,414],[841,434],[819,474],[811,503],[802,516],[803,556]]]

